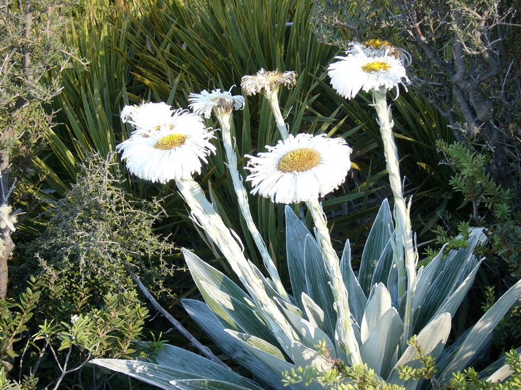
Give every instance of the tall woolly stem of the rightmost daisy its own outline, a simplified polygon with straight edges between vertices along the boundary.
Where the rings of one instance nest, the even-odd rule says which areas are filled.
[[[405,199],[403,198],[402,180],[398,162],[398,148],[396,148],[392,133],[393,121],[391,117],[391,108],[387,105],[387,89],[380,88],[379,90],[374,90],[373,101],[373,107],[378,114],[378,124],[380,126],[380,134],[382,136],[383,149],[387,161],[389,183],[391,184],[391,189],[394,195],[394,220],[396,224],[395,240],[396,250],[398,252],[395,254],[395,261],[402,262],[402,259],[404,259],[405,270],[407,273],[403,347],[406,345],[405,342],[411,336],[410,332],[412,331],[412,302],[416,280],[416,253],[413,245],[413,231],[409,215],[410,209],[407,207]],[[396,258],[396,256],[399,256],[399,258]],[[399,282],[401,279],[402,278],[400,277],[398,278]],[[400,289],[402,290],[400,295],[403,296],[403,286],[399,285],[399,290]]]

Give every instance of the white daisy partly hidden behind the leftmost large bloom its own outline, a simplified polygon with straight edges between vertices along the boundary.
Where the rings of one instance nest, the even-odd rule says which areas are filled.
[[[140,106],[125,106],[121,110],[121,121],[131,123],[134,132],[157,130],[172,121],[172,108],[165,102],[143,103]]]

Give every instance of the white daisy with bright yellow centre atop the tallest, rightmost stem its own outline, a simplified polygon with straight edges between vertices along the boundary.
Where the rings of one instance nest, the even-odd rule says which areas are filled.
[[[340,96],[351,99],[363,89],[369,92],[385,87],[391,89],[409,82],[405,67],[398,58],[389,54],[380,57],[368,57],[363,51],[358,54],[348,54],[346,57],[329,65],[328,73],[331,85]]]

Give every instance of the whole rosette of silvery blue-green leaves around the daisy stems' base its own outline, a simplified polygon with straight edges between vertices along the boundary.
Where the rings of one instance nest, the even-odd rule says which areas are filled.
[[[263,385],[282,389],[283,371],[299,367],[328,370],[328,361],[317,347],[327,348],[332,359],[353,365],[352,356],[335,331],[336,305],[331,292],[332,278],[341,278],[349,292],[351,326],[359,347],[361,362],[388,384],[415,389],[422,382],[400,379],[396,368],[403,365],[419,367],[416,348],[407,345],[405,329],[416,335],[417,344],[426,355],[437,359],[441,383],[451,374],[463,370],[479,353],[487,337],[506,311],[521,296],[521,281],[508,290],[461,339],[445,348],[451,331],[451,318],[465,297],[481,263],[473,250],[485,240],[480,229],[470,232],[465,248],[440,251],[432,261],[417,272],[413,316],[406,323],[405,295],[399,296],[393,260],[394,225],[389,204],[383,202],[371,228],[358,275],[351,267],[350,243],[346,242],[341,258],[341,274],[329,275],[317,241],[305,225],[286,207],[287,261],[293,296],[284,300],[270,281],[254,269],[267,294],[283,314],[290,327],[277,327],[270,321],[266,306],[258,297],[246,293],[220,271],[209,266],[189,251],[184,251],[192,276],[205,302],[184,300],[191,317],[233,360],[261,379]],[[270,309],[273,310],[273,309]],[[282,340],[291,340],[291,345]],[[324,344],[325,343],[325,344]],[[257,388],[235,374],[203,372],[213,363],[187,355],[178,361],[178,350],[164,352],[156,362],[93,360],[97,365],[124,372],[134,378],[161,388],[193,389],[202,387]],[[164,356],[167,354],[168,356]],[[215,371],[217,372],[217,371]],[[498,379],[497,372],[494,378]],[[503,376],[507,376],[504,374]],[[425,383],[425,382],[424,382]],[[287,384],[304,388],[304,383]],[[317,382],[307,385],[311,390],[323,388]],[[418,387],[420,388],[420,387]]]

